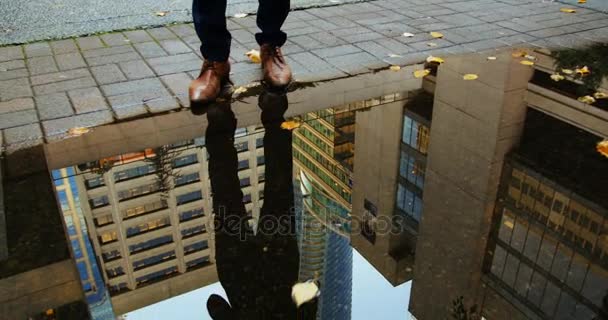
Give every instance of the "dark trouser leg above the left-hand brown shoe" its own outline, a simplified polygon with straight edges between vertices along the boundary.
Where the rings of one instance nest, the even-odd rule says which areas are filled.
[[[192,16],[203,57],[211,61],[228,60],[232,36],[226,28],[226,0],[193,0]]]

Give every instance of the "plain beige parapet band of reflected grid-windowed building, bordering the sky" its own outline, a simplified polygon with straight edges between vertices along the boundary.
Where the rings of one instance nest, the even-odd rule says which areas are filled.
[[[219,280],[215,265],[193,270],[163,281],[147,285],[112,297],[112,305],[117,315],[184,294],[215,283]],[[205,308],[206,301],[200,307]]]

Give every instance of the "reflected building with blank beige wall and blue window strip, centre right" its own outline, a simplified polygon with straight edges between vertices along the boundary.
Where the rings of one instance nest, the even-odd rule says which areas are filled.
[[[357,114],[351,244],[396,286],[412,277],[432,100],[385,100]]]

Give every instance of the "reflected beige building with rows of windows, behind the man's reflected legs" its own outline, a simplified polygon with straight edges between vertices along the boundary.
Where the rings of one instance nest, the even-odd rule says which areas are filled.
[[[257,218],[263,133],[237,131],[239,178]],[[67,168],[117,314],[217,281],[204,139]],[[69,199],[68,199],[69,200]]]

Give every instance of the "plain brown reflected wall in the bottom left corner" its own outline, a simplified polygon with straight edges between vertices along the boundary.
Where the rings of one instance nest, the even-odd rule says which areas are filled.
[[[0,280],[3,319],[27,319],[47,309],[83,299],[80,276],[72,260]]]

